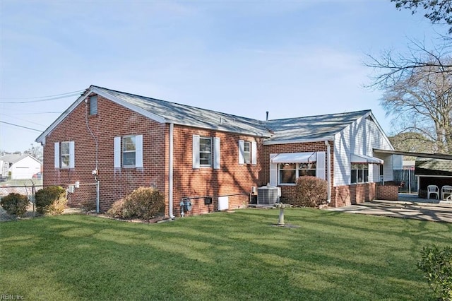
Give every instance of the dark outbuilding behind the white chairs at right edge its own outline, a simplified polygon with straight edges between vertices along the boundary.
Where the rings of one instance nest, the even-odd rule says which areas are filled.
[[[432,158],[417,158],[415,166],[417,177],[417,191],[422,198],[427,198],[427,186],[436,185],[441,188],[444,185],[452,186],[452,160]]]

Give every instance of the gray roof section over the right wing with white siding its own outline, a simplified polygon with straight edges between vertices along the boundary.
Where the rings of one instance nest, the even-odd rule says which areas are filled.
[[[357,119],[369,114],[370,110],[326,114],[319,116],[275,119],[265,122],[275,136],[270,141],[297,141],[331,138]]]

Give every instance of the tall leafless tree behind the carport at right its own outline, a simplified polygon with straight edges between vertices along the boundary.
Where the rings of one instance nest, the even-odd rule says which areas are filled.
[[[426,61],[435,61],[435,57]],[[401,132],[417,132],[435,141],[437,153],[452,153],[452,66],[445,64],[391,74],[378,85],[384,90],[381,105],[394,122],[403,124]]]

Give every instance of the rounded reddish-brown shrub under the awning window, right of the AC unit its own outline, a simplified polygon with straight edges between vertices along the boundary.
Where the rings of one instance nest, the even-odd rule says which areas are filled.
[[[298,206],[317,207],[328,199],[328,184],[318,177],[303,176],[297,179],[296,198]]]

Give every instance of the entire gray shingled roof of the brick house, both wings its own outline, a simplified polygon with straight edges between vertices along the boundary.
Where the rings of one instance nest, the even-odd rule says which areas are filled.
[[[357,119],[364,117],[366,114],[371,114],[370,110],[365,110],[261,121],[91,85],[71,107],[36,138],[36,141],[44,141],[45,136],[62,122],[83,100],[88,98],[90,93],[102,95],[109,100],[117,102],[119,105],[128,107],[157,122],[260,136],[267,138],[266,143],[331,139],[334,134],[337,134],[345,129],[346,126],[356,122]]]

